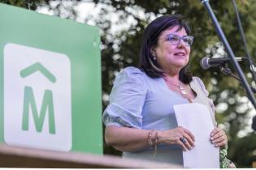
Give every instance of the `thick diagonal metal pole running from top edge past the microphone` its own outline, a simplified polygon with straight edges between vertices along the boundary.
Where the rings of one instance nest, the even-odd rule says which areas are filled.
[[[245,90],[247,92],[247,96],[248,96],[250,102],[254,105],[254,108],[256,109],[256,102],[255,102],[255,99],[254,99],[253,91],[249,87],[249,84],[247,83],[247,81],[245,79],[245,75],[242,73],[241,67],[236,62],[235,55],[234,55],[234,53],[233,53],[233,51],[232,51],[232,49],[231,49],[231,47],[228,43],[228,40],[227,40],[226,36],[224,35],[224,33],[222,31],[222,28],[219,25],[218,20],[216,19],[216,16],[215,16],[214,12],[211,9],[211,6],[209,4],[209,0],[200,0],[200,1],[206,7],[206,10],[208,11],[208,14],[210,15],[210,19],[214,23],[215,30],[218,33],[219,38],[223,41],[223,45],[224,45],[225,49],[227,49],[228,57],[230,57],[232,65],[234,66],[236,72],[238,73],[243,87],[245,87]]]

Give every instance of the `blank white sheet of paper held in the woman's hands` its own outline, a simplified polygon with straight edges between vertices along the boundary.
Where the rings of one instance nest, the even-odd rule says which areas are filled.
[[[210,142],[214,125],[206,105],[178,104],[174,110],[178,125],[195,136],[195,147],[183,151],[184,168],[219,168],[219,147]]]

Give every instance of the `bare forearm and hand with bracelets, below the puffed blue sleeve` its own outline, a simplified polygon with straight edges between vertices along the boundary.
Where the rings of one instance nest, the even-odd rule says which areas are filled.
[[[150,130],[138,130],[134,128],[109,125],[106,126],[105,140],[107,145],[111,145],[116,150],[138,151],[149,146],[149,133]],[[181,142],[180,138],[182,137],[184,137],[187,142]],[[153,138],[158,138],[157,144],[178,144],[183,147],[184,151],[190,150],[194,147],[193,134],[181,126],[172,130],[159,130],[158,137],[156,137],[156,134],[153,134]]]

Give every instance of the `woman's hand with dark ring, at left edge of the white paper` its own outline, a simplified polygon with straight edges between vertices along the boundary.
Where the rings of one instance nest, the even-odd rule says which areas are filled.
[[[183,142],[182,142],[183,141]],[[195,147],[195,138],[193,134],[184,129],[182,126],[178,126],[172,130],[161,130],[158,134],[158,142],[165,144],[178,144],[184,151],[191,150]]]

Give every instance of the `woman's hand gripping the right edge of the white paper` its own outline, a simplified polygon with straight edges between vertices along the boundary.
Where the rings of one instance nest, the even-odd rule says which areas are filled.
[[[217,127],[210,133],[210,141],[215,147],[224,147],[228,143],[228,138],[224,130]]]

